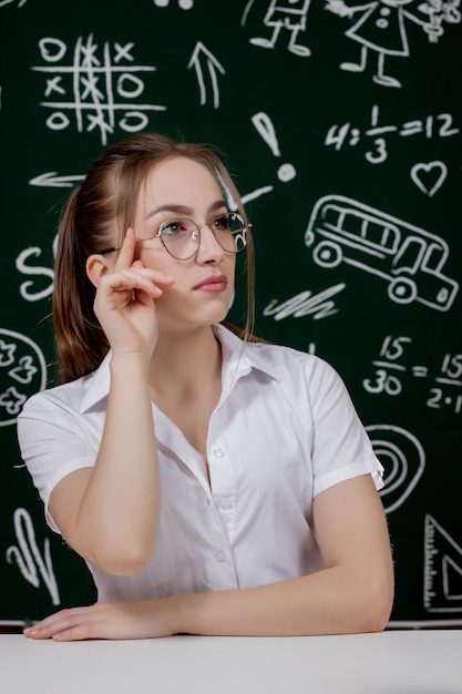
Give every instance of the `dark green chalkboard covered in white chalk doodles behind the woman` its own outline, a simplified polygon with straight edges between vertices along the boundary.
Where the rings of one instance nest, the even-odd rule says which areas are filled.
[[[387,471],[392,621],[462,620],[458,4],[0,0],[0,620],[94,599],[16,418],[54,378],[60,207],[148,130],[219,147],[254,225],[256,331],[351,392]]]

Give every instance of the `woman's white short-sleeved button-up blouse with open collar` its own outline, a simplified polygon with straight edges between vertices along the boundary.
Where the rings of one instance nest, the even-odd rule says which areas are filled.
[[[216,326],[222,397],[203,457],[153,404],[162,483],[161,525],[147,569],[114,576],[90,565],[99,600],[145,600],[261,585],[318,571],[312,499],[383,468],[338,374],[319,357],[243,341]],[[39,392],[18,420],[24,462],[48,504],[57,483],[93,466],[103,432],[109,363]]]

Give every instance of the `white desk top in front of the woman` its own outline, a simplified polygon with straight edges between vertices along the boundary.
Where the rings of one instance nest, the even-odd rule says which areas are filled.
[[[462,694],[462,630],[54,643],[0,635],[4,694]]]

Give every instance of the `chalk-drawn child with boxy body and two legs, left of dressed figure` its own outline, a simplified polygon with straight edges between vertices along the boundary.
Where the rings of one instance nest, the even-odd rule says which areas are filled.
[[[271,0],[266,12],[264,24],[273,27],[273,35],[270,39],[254,38],[250,43],[260,48],[275,48],[276,41],[283,28],[287,29],[290,38],[287,49],[296,55],[306,58],[311,51],[306,45],[297,43],[297,37],[300,31],[306,30],[307,13],[310,0]]]

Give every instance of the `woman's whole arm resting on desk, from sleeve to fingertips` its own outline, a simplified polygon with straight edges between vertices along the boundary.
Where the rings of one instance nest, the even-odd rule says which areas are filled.
[[[64,610],[28,630],[35,639],[309,635],[381,631],[393,567],[383,507],[371,477],[341,482],[314,503],[326,569],[258,588]]]

